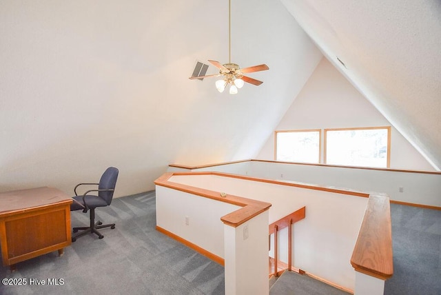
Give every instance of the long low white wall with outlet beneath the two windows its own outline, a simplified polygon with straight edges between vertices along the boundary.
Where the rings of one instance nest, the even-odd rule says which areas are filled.
[[[252,161],[249,176],[384,193],[391,200],[441,207],[441,174]],[[402,192],[400,192],[402,188]]]

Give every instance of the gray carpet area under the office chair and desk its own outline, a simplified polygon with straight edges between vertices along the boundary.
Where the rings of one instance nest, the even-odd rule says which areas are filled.
[[[114,199],[96,210],[103,239],[82,236],[57,252],[0,268],[0,278],[26,279],[26,285],[0,285],[0,294],[224,294],[224,268],[157,232],[155,194]],[[72,212],[72,226],[88,225],[88,214]],[[30,285],[37,278],[46,285]],[[63,285],[47,285],[48,278]]]

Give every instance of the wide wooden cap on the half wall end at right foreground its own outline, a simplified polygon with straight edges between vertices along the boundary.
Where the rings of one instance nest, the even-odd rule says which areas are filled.
[[[351,265],[357,272],[387,280],[393,275],[392,227],[389,197],[370,195]]]

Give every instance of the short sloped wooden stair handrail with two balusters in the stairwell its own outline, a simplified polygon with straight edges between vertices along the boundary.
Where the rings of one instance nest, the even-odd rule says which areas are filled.
[[[280,218],[278,221],[274,221],[268,226],[269,235],[274,234],[274,276],[278,276],[278,245],[277,245],[277,233],[279,230],[283,230],[288,227],[288,269],[291,269],[292,263],[292,225],[297,221],[301,221],[305,218],[305,207],[301,207],[299,210],[288,214],[285,217]]]

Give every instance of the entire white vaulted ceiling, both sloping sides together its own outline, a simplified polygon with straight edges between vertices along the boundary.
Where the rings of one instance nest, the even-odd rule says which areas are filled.
[[[0,191],[252,158],[323,55],[441,167],[440,1],[232,0],[232,62],[270,68],[235,96],[187,79],[227,63],[227,3],[0,1]]]

